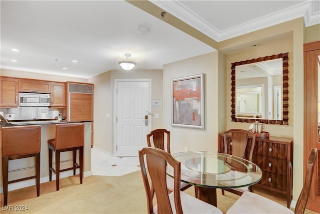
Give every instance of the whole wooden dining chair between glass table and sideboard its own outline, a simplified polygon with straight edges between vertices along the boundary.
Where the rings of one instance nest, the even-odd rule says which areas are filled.
[[[227,136],[231,135],[230,146],[227,145]],[[255,134],[244,129],[229,129],[223,133],[224,140],[224,153],[231,154],[237,157],[244,158],[245,151],[247,149],[248,138],[251,138],[251,144],[249,145],[249,155],[247,159],[252,162],[252,154],[255,145]],[[221,151],[220,151],[221,152]],[[253,192],[253,186],[244,186],[240,188],[221,189],[222,195],[224,191],[232,192],[237,195],[241,195],[245,191]]]

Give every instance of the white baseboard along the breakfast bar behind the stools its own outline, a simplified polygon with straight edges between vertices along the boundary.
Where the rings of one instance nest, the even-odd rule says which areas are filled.
[[[76,169],[76,174],[79,173],[78,169]],[[92,175],[92,171],[85,171],[83,173],[84,177],[90,176]],[[64,178],[64,177],[70,177],[73,176],[73,171],[65,171],[65,172],[60,172],[60,178]],[[55,180],[55,174],[52,173],[52,180]],[[49,181],[49,176],[46,177],[42,177],[40,178],[40,183],[45,183]],[[8,184],[8,192],[15,190],[15,189],[21,189],[21,188],[25,188],[28,186],[34,186],[35,185],[35,178],[34,179],[29,179],[29,180],[23,180],[20,182],[15,182],[15,183],[9,183]],[[3,187],[1,186],[0,189],[0,193],[3,193]]]

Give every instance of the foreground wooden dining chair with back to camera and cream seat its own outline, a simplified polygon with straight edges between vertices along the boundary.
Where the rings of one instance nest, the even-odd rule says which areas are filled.
[[[139,162],[146,193],[147,213],[222,213],[217,207],[180,191],[181,164],[170,153],[155,147],[145,147],[139,150]],[[170,193],[166,188],[167,164],[172,166],[174,171],[173,191]],[[149,180],[155,191],[154,206]]]

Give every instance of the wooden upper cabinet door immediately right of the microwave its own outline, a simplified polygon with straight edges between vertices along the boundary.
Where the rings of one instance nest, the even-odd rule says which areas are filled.
[[[65,84],[51,82],[51,107],[65,106]]]

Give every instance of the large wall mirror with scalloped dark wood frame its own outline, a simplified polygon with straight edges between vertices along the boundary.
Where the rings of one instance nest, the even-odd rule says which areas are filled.
[[[288,124],[288,53],[231,65],[232,121]]]

